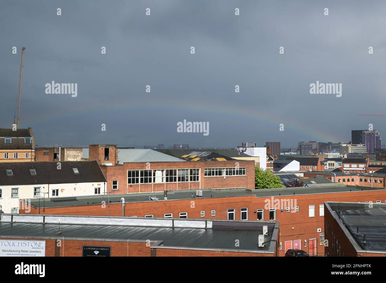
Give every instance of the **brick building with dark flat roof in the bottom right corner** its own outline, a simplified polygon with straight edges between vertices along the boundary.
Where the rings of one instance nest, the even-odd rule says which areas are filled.
[[[386,256],[386,202],[325,202],[326,256]]]

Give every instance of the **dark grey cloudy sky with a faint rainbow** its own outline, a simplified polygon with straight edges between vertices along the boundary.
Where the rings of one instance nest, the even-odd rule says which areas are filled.
[[[357,114],[386,114],[386,2],[315,2],[2,1],[0,127],[12,127],[25,46],[20,128],[38,145],[296,147],[369,123],[382,138],[386,117]],[[46,94],[51,81],[78,96]],[[342,97],[310,94],[316,81],[342,83]],[[209,135],[178,133],[184,119]]]

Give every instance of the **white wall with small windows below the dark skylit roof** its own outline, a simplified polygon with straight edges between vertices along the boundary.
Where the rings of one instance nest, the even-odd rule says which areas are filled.
[[[94,195],[95,188],[100,188],[100,194],[105,194],[106,185],[103,182],[78,183],[78,184],[34,184],[34,185],[12,185],[2,186],[0,205],[4,213],[11,213],[11,209],[19,207],[20,199],[34,199],[34,188],[40,189],[41,201],[44,198],[52,197],[52,190],[59,189],[59,195],[54,197],[74,197],[82,195]],[[12,197],[12,189],[19,189],[19,197]],[[43,194],[48,192],[48,194]]]

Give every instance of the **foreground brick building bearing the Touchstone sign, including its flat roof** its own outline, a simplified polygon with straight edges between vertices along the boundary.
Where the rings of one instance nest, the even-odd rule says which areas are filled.
[[[0,215],[0,256],[277,256],[279,222]]]

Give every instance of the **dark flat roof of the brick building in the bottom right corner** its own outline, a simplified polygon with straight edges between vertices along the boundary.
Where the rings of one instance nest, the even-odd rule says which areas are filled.
[[[325,204],[357,252],[386,252],[386,204],[372,203],[371,206],[369,203],[357,202],[325,202]],[[364,234],[366,245],[363,243]]]

